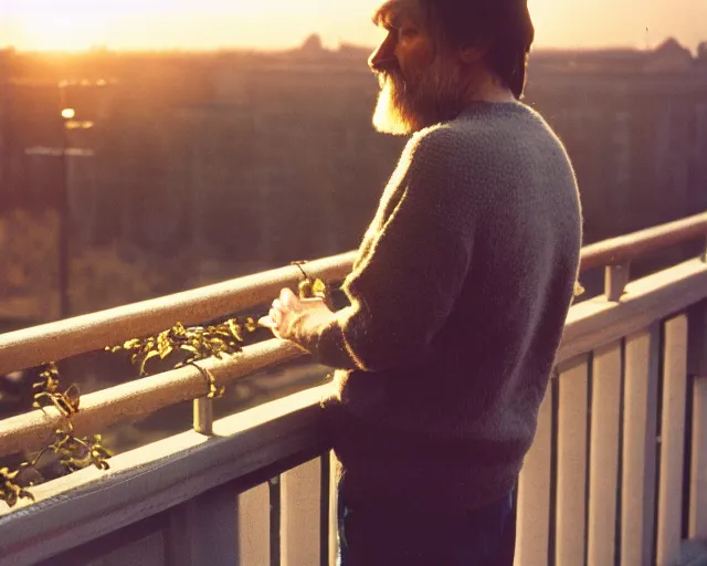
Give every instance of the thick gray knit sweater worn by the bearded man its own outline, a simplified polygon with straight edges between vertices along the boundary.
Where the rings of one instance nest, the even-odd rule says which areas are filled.
[[[560,140],[520,103],[415,134],[344,290],[305,347],[349,502],[457,513],[507,494],[577,281],[581,211]]]

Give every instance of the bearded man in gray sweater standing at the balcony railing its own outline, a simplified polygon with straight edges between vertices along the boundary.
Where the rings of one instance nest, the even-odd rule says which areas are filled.
[[[511,565],[514,490],[577,281],[567,154],[519,102],[526,0],[392,0],[373,21],[380,132],[413,134],[330,312],[262,324],[339,369],[345,566]]]

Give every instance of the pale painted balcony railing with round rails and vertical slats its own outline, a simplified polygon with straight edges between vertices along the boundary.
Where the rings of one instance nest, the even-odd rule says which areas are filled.
[[[707,264],[696,258],[636,281],[629,263],[707,238],[707,213],[588,247],[605,295],[568,316],[518,491],[519,565],[674,565],[707,539]],[[354,253],[307,265],[339,281]],[[295,266],[0,336],[0,374],[267,304]],[[219,386],[291,361],[278,340],[205,360]],[[325,385],[210,419],[202,374],[186,367],[82,396],[78,436],[194,401],[196,430],[118,454],[0,506],[1,564],[333,564]],[[0,421],[0,457],[45,446],[53,408]]]

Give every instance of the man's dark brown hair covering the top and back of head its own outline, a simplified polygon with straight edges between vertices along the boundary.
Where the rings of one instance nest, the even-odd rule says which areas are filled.
[[[453,48],[486,48],[486,60],[520,99],[535,28],[527,0],[420,0],[441,41]]]

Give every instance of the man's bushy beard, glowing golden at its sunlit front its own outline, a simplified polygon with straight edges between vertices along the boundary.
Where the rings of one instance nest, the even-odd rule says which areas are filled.
[[[373,126],[383,134],[405,136],[455,118],[465,106],[461,75],[458,66],[440,60],[408,80],[400,70],[379,73]]]

